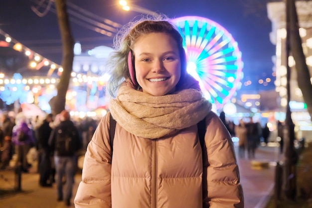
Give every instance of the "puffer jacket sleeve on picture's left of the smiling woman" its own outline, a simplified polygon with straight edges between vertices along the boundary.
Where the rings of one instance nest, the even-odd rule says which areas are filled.
[[[109,113],[100,121],[88,145],[75,208],[111,208],[111,161]]]

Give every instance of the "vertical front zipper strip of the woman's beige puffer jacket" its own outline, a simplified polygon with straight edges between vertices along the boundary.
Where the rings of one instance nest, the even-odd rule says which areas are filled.
[[[156,150],[156,139],[152,140],[152,206],[151,208],[156,208],[157,199],[157,150]]]

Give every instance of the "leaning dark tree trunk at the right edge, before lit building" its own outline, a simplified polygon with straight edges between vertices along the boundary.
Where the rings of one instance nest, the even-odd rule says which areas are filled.
[[[312,84],[311,75],[306,62],[306,56],[302,48],[302,39],[299,34],[299,22],[295,0],[291,0],[290,10],[290,44],[291,51],[296,61],[298,86],[302,91],[303,98],[307,104],[308,112],[312,119]]]

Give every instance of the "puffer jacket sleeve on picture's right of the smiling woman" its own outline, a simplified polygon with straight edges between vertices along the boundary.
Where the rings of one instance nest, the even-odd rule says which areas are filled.
[[[203,208],[244,208],[234,145],[226,127],[211,112],[203,148]]]

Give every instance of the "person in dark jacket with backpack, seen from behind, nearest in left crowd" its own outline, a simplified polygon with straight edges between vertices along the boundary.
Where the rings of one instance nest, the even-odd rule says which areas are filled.
[[[57,201],[65,202],[70,206],[74,176],[77,167],[77,151],[81,147],[77,127],[70,120],[68,111],[60,113],[60,123],[52,130],[49,137],[50,151],[54,154],[56,169]],[[63,193],[63,177],[66,178]]]

